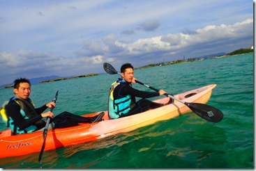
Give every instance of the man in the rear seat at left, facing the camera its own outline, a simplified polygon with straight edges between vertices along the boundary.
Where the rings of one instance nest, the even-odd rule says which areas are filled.
[[[43,131],[46,122],[42,119],[45,117],[52,118],[52,124],[49,125],[48,129],[73,127],[79,125],[81,122],[98,122],[103,117],[103,112],[94,117],[82,117],[68,112],[60,113],[54,117],[51,111],[43,113],[46,108],[55,107],[56,105],[51,101],[40,108],[34,108],[34,104],[29,99],[30,87],[31,83],[28,79],[16,79],[13,89],[15,96],[10,98],[8,104],[1,108],[3,122],[6,122],[6,126],[12,130],[13,135]]]

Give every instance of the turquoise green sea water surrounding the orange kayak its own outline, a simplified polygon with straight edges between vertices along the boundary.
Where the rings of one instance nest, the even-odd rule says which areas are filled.
[[[212,123],[186,113],[96,142],[44,152],[41,163],[39,153],[1,158],[0,168],[254,168],[253,73],[253,54],[135,70],[139,81],[172,94],[216,83],[207,104],[223,111],[223,120]],[[40,107],[59,90],[55,115],[106,111],[108,90],[117,78],[100,74],[40,83],[32,85],[31,99]],[[12,88],[1,89],[0,103],[12,96]]]

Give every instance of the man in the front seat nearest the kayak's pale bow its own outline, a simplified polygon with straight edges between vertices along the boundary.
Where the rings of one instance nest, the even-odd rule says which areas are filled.
[[[157,97],[167,92],[164,90],[159,90],[159,92],[137,90],[132,87],[132,83],[135,83],[133,76],[133,65],[126,63],[121,66],[122,78],[112,83],[108,100],[108,113],[112,119],[142,113],[149,110],[149,108],[158,108],[165,105],[157,104],[145,98]],[[136,102],[135,97],[141,97],[142,99]]]

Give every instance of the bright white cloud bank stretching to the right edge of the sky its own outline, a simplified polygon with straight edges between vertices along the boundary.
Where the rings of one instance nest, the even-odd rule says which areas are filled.
[[[196,34],[188,35],[183,33],[160,35],[153,38],[139,39],[130,44],[122,44],[130,54],[143,54],[153,51],[179,51],[181,48],[193,44],[207,43],[225,39],[239,39],[244,36],[253,38],[253,19],[236,23],[234,25],[206,26],[197,29]]]

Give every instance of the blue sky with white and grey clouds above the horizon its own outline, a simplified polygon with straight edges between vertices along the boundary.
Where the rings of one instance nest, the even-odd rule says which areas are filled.
[[[0,0],[0,85],[253,46],[249,0]]]

